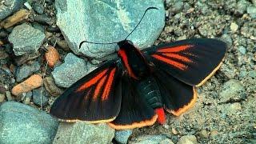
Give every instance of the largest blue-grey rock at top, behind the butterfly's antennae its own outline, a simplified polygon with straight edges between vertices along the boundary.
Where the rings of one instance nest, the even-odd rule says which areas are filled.
[[[165,25],[165,10],[162,0],[56,0],[57,25],[62,30],[71,50],[92,58],[102,58],[114,52],[116,44],[96,45],[80,42],[118,42],[126,38],[138,24],[144,11],[150,7],[142,23],[130,35],[139,48],[151,46]]]

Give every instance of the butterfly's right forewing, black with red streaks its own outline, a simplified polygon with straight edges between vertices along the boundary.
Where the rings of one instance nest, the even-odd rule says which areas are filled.
[[[190,86],[201,86],[221,66],[226,43],[217,39],[196,38],[144,51],[159,70]]]

